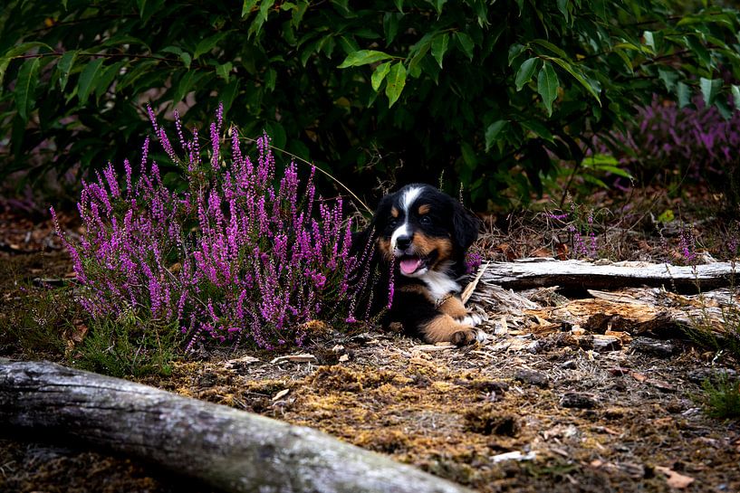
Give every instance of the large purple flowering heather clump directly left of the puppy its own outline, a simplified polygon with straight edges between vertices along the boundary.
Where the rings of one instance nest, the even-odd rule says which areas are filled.
[[[278,183],[269,137],[257,139],[253,161],[235,128],[224,132],[222,108],[204,150],[197,130],[184,137],[177,112],[179,151],[151,109],[149,117],[160,146],[184,170],[187,191],[163,184],[147,138],[138,179],[126,160],[122,180],[109,164],[83,183],[79,244],[64,236],[52,209],[91,317],[133,312],[177,322],[190,349],[211,339],[301,345],[303,323],[346,315],[350,224],[341,199],[316,197],[315,170],[302,185],[291,162]]]

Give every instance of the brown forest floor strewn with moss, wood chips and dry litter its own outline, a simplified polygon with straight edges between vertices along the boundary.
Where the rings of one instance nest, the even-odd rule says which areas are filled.
[[[699,261],[729,260],[722,245],[736,233],[732,221],[684,212],[682,223],[656,224],[671,207],[665,200],[594,227],[600,254],[681,261],[681,238],[690,234],[688,253]],[[563,238],[571,223],[551,215],[489,218],[476,248],[494,261],[570,257],[577,246]],[[70,365],[83,324],[73,310],[49,312],[54,286],[70,279],[68,258],[43,218],[6,208],[0,226],[0,356]],[[737,375],[729,352],[697,344],[675,324],[638,333],[629,323],[605,328],[554,314],[585,293],[512,293],[533,309],[497,306],[486,289],[469,303],[487,319],[483,344],[429,346],[393,331],[346,334],[317,322],[294,353],[240,350],[132,379],[310,426],[481,492],[740,491],[740,422],[707,415],[703,389],[707,379]],[[79,330],[58,344],[23,333],[24,325],[62,324]],[[598,337],[613,344],[596,344]],[[209,489],[129,458],[15,437],[0,441],[0,491]]]

